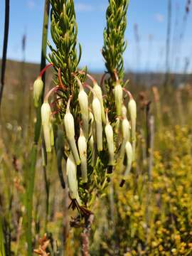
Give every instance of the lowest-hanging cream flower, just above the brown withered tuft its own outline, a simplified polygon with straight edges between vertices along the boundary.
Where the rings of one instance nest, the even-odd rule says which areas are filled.
[[[72,153],[70,153],[67,160],[66,174],[68,179],[70,198],[77,199],[78,198],[77,166],[75,164],[75,160],[73,158]]]

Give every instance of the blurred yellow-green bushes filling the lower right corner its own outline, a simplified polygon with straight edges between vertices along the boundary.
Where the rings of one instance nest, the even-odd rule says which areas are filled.
[[[106,226],[95,223],[94,250],[97,230],[101,237],[94,255],[191,255],[190,134],[179,126],[156,134],[151,182],[142,163],[123,189],[114,178],[114,211],[107,209]]]

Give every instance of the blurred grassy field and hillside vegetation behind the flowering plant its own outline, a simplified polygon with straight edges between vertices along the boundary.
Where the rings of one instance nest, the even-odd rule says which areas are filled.
[[[190,14],[188,3],[185,15]],[[169,58],[169,18],[165,26]],[[137,33],[137,26],[134,29]],[[192,76],[187,67],[174,73],[166,64],[165,72],[135,70],[125,75],[138,108],[137,161],[125,186],[119,188],[119,174],[114,174],[105,196],[95,204],[90,255],[192,255]],[[7,61],[0,124],[0,248],[4,241],[6,255],[26,255],[25,176],[35,121],[33,81],[38,73],[39,65],[24,58]],[[98,72],[92,75],[98,82],[102,77]],[[46,90],[51,81],[49,70]],[[46,175],[41,157],[37,162],[33,247],[43,247],[49,240],[47,252],[62,255],[65,240],[66,255],[80,255],[82,230],[69,228],[68,201],[55,156],[51,158]]]

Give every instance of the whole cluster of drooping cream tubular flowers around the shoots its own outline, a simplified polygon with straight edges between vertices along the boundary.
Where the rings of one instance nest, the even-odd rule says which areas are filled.
[[[78,105],[80,120],[73,110],[71,102],[74,95],[70,95],[67,105],[57,104],[57,109],[51,110],[52,104],[48,102],[48,98],[55,92],[63,90],[63,85],[57,85],[46,95],[41,107],[41,119],[43,134],[46,143],[46,151],[50,152],[54,145],[53,135],[53,115],[64,112],[61,123],[63,124],[63,137],[65,145],[62,146],[63,154],[66,156],[66,176],[69,188],[70,198],[82,205],[81,198],[78,193],[78,181],[87,183],[91,179],[92,171],[97,166],[97,161],[102,161],[103,166],[108,172],[113,170],[119,171],[122,175],[122,183],[126,181],[134,161],[135,141],[136,141],[136,118],[137,107],[131,93],[127,91],[119,82],[115,73],[116,82],[112,90],[114,97],[114,113],[109,114],[110,110],[105,107],[109,105],[107,96],[103,95],[102,87],[97,84],[91,75],[87,78],[92,80],[92,87],[85,82],[81,82],[78,75],[80,72],[73,73],[75,82],[78,85]],[[34,95],[41,95],[39,82],[34,82]],[[42,82],[41,82],[42,83]],[[68,90],[68,89],[65,89]],[[65,92],[64,92],[65,93]],[[76,92],[77,93],[77,92]],[[129,96],[126,107],[125,99]],[[40,97],[40,96],[38,96]],[[58,95],[56,102],[59,101]],[[35,100],[36,105],[37,100]],[[112,119],[110,119],[110,117]],[[107,156],[107,164],[102,156]],[[80,166],[80,177],[78,177],[77,167]],[[110,170],[110,171],[109,171]],[[89,173],[90,171],[90,173]]]

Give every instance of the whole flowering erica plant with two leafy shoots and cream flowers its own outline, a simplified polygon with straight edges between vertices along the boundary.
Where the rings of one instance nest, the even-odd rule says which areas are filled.
[[[55,149],[61,184],[68,189],[71,200],[69,208],[77,212],[70,224],[84,226],[85,254],[95,200],[105,194],[113,171],[119,173],[123,185],[134,160],[136,103],[124,88],[122,56],[128,1],[109,1],[102,49],[105,75],[109,75],[107,79],[103,76],[103,85],[87,73],[87,68],[78,68],[81,47],[77,47],[73,0],[50,0],[50,4],[50,31],[55,46],[48,43],[48,61],[54,69],[54,87],[41,107],[43,135],[46,154],[53,154]],[[34,83],[35,105],[42,87],[38,78]],[[127,95],[128,103],[124,101]]]

